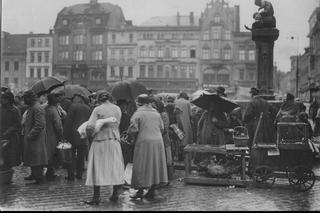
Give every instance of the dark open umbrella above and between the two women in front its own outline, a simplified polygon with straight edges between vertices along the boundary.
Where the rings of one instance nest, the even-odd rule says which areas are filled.
[[[137,81],[117,82],[112,88],[112,96],[116,100],[134,100],[138,95],[147,93],[147,88]]]

